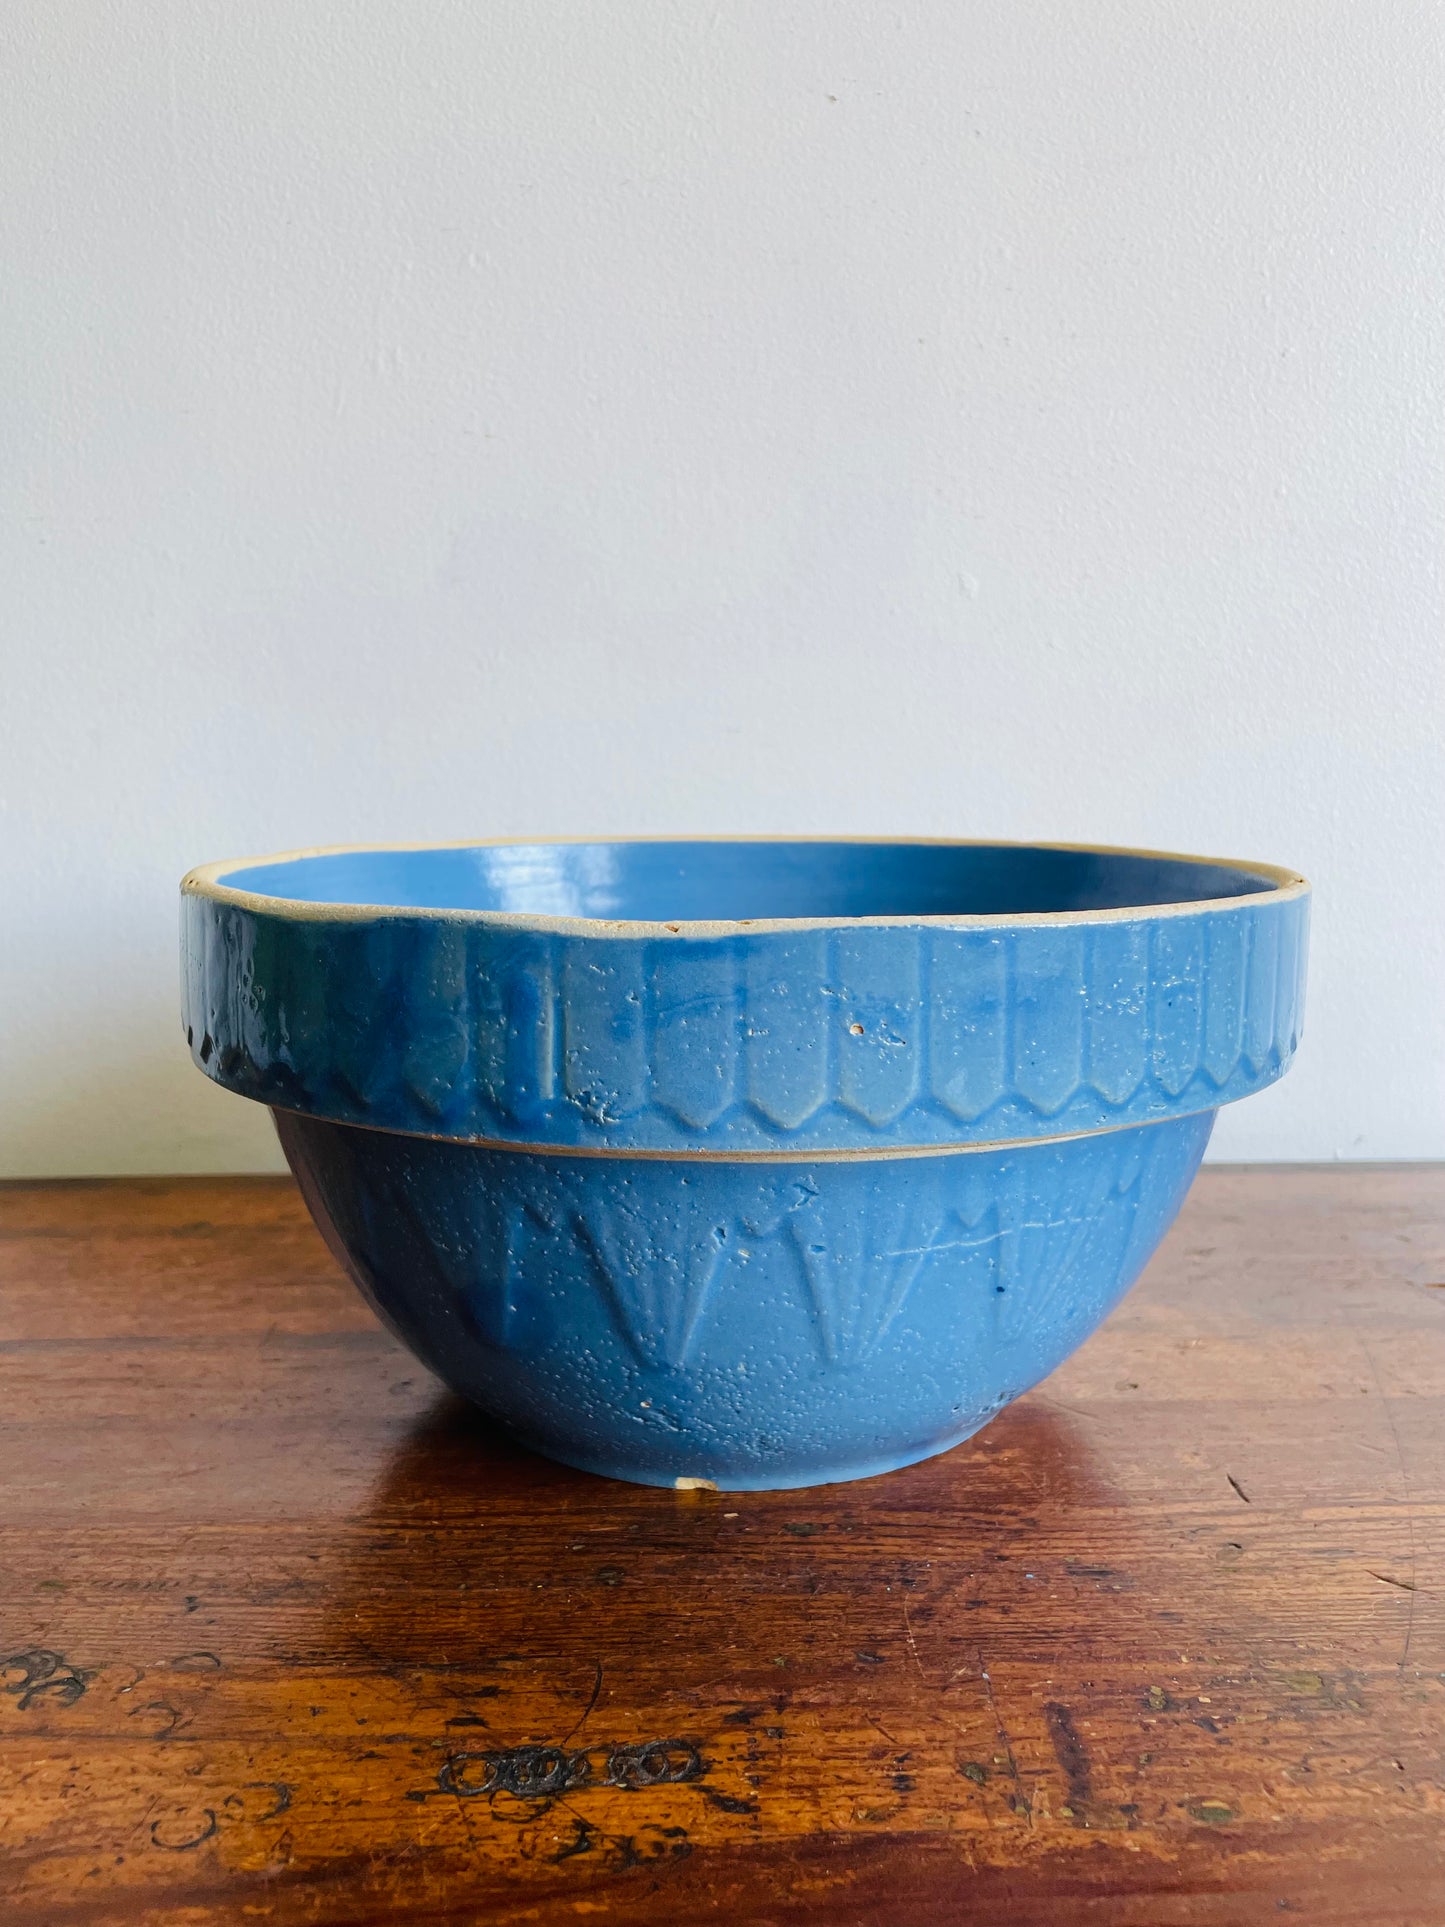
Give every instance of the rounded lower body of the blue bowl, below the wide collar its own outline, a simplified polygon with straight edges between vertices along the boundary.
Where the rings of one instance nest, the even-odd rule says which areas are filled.
[[[1212,1122],[815,1162],[277,1129],[378,1312],[518,1439],[753,1490],[909,1465],[1044,1378],[1158,1245]]]

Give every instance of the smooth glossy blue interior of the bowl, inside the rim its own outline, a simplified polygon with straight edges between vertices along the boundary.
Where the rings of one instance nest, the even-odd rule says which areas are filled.
[[[538,842],[333,850],[225,871],[302,904],[644,923],[1037,915],[1254,896],[1270,875],[1193,858],[1019,844]]]

